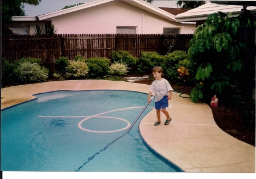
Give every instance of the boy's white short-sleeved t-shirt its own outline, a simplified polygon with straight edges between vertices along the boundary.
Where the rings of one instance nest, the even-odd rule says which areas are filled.
[[[162,78],[162,80],[154,80],[148,89],[151,93],[155,92],[155,102],[160,101],[165,95],[169,95],[168,91],[172,91],[170,83]]]

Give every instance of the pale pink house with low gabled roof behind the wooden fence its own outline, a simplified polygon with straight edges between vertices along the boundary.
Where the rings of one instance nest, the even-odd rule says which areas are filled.
[[[36,24],[54,24],[56,34],[193,34],[195,23],[142,0],[97,0],[38,16],[14,16],[16,34],[34,34]]]

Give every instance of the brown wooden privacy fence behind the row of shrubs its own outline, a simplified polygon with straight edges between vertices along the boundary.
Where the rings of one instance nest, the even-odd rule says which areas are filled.
[[[130,34],[56,34],[56,35],[7,35],[2,36],[2,58],[13,63],[22,57],[42,59],[46,66],[59,57],[72,60],[81,55],[111,59],[112,51],[129,51],[140,57],[141,52],[158,52],[166,55],[170,45],[174,50],[188,49],[193,35],[130,35]]]

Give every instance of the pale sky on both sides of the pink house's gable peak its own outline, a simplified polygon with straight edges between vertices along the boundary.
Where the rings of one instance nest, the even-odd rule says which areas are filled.
[[[26,16],[38,16],[47,13],[52,13],[54,11],[59,11],[65,6],[71,6],[79,3],[87,3],[96,0],[42,0],[38,6],[32,6],[24,3],[24,11]],[[172,7],[177,8],[177,1],[171,0],[155,0],[152,5],[156,7]]]

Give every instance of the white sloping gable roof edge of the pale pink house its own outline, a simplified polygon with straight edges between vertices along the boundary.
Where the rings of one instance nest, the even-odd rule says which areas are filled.
[[[104,3],[108,3],[108,2],[112,2],[112,1],[119,1],[119,0],[97,0],[97,1],[93,1],[93,2],[84,3],[83,5],[71,7],[68,9],[55,11],[53,13],[39,15],[39,16],[37,16],[37,18],[39,20],[45,20],[45,19],[49,19],[49,18],[52,18],[55,16],[72,13],[74,11],[84,10],[89,7],[103,5]],[[122,1],[122,2],[127,3],[134,7],[138,7],[139,9],[148,11],[149,13],[161,16],[162,18],[171,20],[172,22],[176,22],[175,15],[172,15],[172,14],[168,13],[167,11],[159,9],[158,7],[155,7],[155,6],[151,5],[150,3],[144,2],[142,0],[129,0],[129,1]]]

